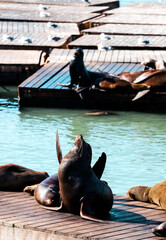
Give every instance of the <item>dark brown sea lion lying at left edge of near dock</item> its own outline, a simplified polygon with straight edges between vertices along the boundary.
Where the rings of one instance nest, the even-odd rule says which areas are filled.
[[[40,183],[48,177],[46,172],[34,171],[15,164],[0,166],[0,190],[23,191],[27,185]]]

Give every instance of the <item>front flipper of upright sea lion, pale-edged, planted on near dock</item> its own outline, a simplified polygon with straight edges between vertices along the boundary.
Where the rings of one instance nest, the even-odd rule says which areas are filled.
[[[104,220],[99,219],[95,216],[93,206],[94,204],[90,198],[83,197],[81,199],[80,216],[86,220],[91,220],[95,222],[105,222]]]

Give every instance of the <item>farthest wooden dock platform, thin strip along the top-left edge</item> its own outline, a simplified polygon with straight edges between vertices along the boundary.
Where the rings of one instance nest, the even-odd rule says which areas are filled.
[[[13,3],[29,3],[29,4],[53,4],[53,5],[67,5],[67,6],[109,6],[110,8],[119,7],[117,0],[93,0],[91,3],[83,2],[82,0],[0,0],[0,2],[13,2]]]

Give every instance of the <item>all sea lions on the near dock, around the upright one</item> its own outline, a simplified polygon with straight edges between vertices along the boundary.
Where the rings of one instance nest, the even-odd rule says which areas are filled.
[[[82,135],[75,139],[74,147],[64,157],[56,134],[58,173],[46,172],[6,164],[0,166],[1,191],[25,191],[48,210],[80,214],[84,219],[103,222],[113,205],[113,193],[107,182],[100,180],[106,164],[103,152],[91,167],[92,149]],[[153,187],[137,186],[128,190],[130,200],[157,204],[166,210],[166,181]],[[166,222],[152,229],[156,236],[166,236]]]

